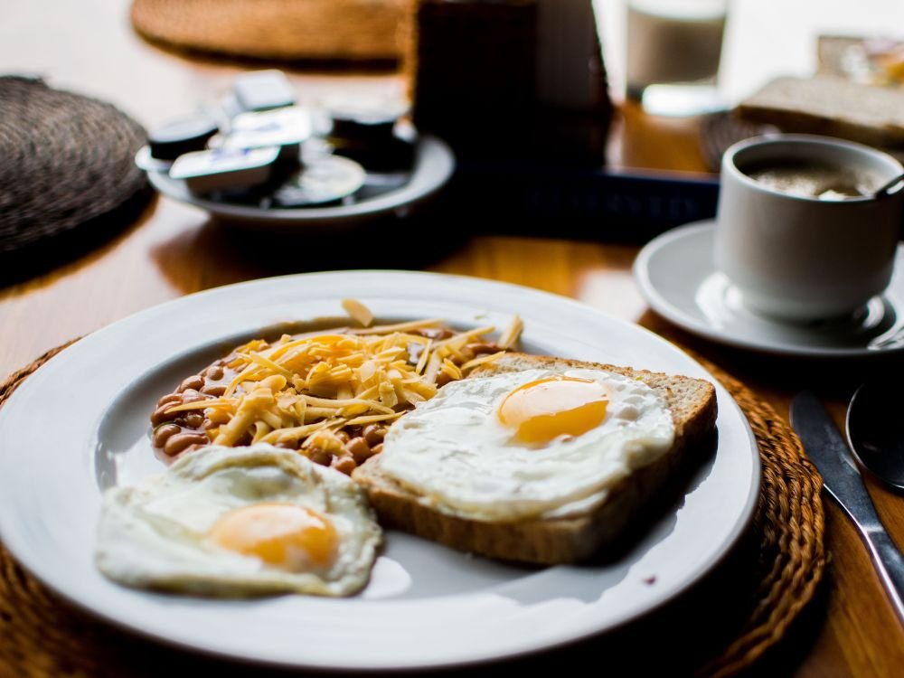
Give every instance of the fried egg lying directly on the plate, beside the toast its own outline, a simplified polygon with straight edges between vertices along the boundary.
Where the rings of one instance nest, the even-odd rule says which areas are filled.
[[[128,586],[215,596],[345,596],[381,530],[350,478],[270,445],[204,447],[104,495],[99,570]]]

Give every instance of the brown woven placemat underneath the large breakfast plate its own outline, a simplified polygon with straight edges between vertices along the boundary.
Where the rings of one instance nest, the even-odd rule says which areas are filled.
[[[0,407],[19,384],[66,345],[0,385]],[[696,672],[723,678],[749,668],[776,645],[813,598],[825,566],[822,480],[796,435],[770,405],[712,363],[695,357],[744,410],[763,466],[751,534],[758,562],[749,576],[757,578],[751,587],[756,593],[749,600],[742,597],[741,604],[749,609],[740,610],[743,622],[733,642]],[[52,595],[0,544],[0,675],[144,676],[192,665],[210,669],[212,661],[149,644],[94,620]],[[242,671],[241,664],[217,663],[218,674]]]

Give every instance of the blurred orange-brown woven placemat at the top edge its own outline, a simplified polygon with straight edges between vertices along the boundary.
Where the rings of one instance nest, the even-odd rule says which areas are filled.
[[[151,42],[274,61],[398,60],[410,0],[135,0]]]

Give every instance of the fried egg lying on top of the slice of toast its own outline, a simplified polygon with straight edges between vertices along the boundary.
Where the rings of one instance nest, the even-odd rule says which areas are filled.
[[[390,429],[381,472],[438,511],[486,521],[567,514],[673,445],[663,397],[595,369],[531,369],[444,386]]]

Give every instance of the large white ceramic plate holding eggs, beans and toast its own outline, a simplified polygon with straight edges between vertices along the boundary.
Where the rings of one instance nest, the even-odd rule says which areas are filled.
[[[390,669],[466,664],[560,645],[634,619],[729,551],[758,493],[754,438],[721,387],[718,451],[680,505],[619,560],[527,568],[391,532],[354,598],[211,600],[126,589],[93,564],[101,489],[162,470],[155,400],[232,344],[362,299],[384,318],[453,325],[524,318],[523,348],[709,377],[664,339],[563,297],[476,278],[355,271],[221,287],[132,315],[71,346],[0,410],[0,536],[25,567],[82,607],[146,636],[273,664]]]

